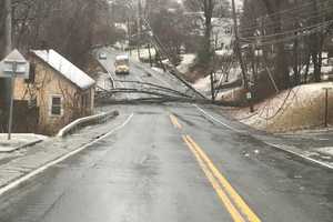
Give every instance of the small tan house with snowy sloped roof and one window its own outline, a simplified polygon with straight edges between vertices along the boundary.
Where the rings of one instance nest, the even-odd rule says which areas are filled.
[[[93,112],[92,78],[54,50],[30,51],[29,60],[30,79],[17,79],[14,99],[38,109],[37,132],[53,134]]]

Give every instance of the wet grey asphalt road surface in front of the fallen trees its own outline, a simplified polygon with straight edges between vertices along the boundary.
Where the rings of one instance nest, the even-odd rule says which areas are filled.
[[[0,222],[333,221],[331,171],[192,104],[114,108],[128,124],[2,196]]]

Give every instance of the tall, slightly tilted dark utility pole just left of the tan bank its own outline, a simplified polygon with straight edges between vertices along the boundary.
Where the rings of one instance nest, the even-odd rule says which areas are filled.
[[[243,84],[244,84],[244,89],[246,90],[246,93],[251,93],[250,88],[249,88],[246,68],[245,68],[243,57],[242,57],[242,51],[241,51],[239,26],[238,26],[238,18],[236,18],[234,0],[232,0],[232,17],[233,17],[233,29],[234,29],[234,37],[235,37],[235,51],[236,51],[236,57],[239,58],[240,65],[242,69]],[[252,107],[251,102],[250,102],[250,109],[251,109],[251,112],[253,112],[253,107]]]

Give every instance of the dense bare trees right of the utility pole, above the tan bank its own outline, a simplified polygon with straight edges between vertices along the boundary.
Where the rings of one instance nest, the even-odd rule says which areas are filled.
[[[322,80],[323,61],[332,57],[333,1],[245,0],[240,17],[254,85],[268,74],[279,90]]]

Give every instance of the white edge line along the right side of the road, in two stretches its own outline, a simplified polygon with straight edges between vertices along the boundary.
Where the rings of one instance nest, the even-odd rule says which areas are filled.
[[[234,129],[234,128],[228,125],[226,123],[220,121],[219,119],[214,118],[213,115],[209,114],[206,111],[204,111],[203,109],[201,109],[199,105],[196,105],[196,104],[193,104],[193,105],[194,105],[198,110],[200,110],[203,114],[205,114],[205,115],[209,117],[210,119],[214,120],[215,122],[219,122],[220,124],[224,125],[225,128],[228,128],[228,129],[230,129],[230,130],[232,130],[232,131],[241,132],[241,131],[239,131],[239,130],[236,130],[236,129]],[[291,154],[293,154],[293,155],[303,158],[303,159],[305,159],[305,160],[307,160],[307,161],[310,161],[310,162],[313,162],[313,163],[320,164],[320,165],[322,165],[322,167],[324,167],[324,168],[329,168],[329,169],[333,170],[333,165],[331,165],[331,164],[327,164],[327,163],[317,161],[317,160],[315,160],[315,159],[309,158],[309,157],[306,157],[306,155],[303,155],[303,154],[301,154],[301,153],[294,152],[294,151],[292,151],[292,150],[289,150],[289,149],[285,149],[285,148],[281,148],[281,147],[279,147],[279,145],[276,145],[276,144],[273,144],[273,143],[268,143],[268,142],[265,142],[265,141],[262,141],[262,142],[264,142],[265,144],[268,144],[268,145],[270,145],[270,147],[273,147],[273,148],[276,148],[276,149],[279,149],[279,150],[289,152],[289,153],[291,153]]]

